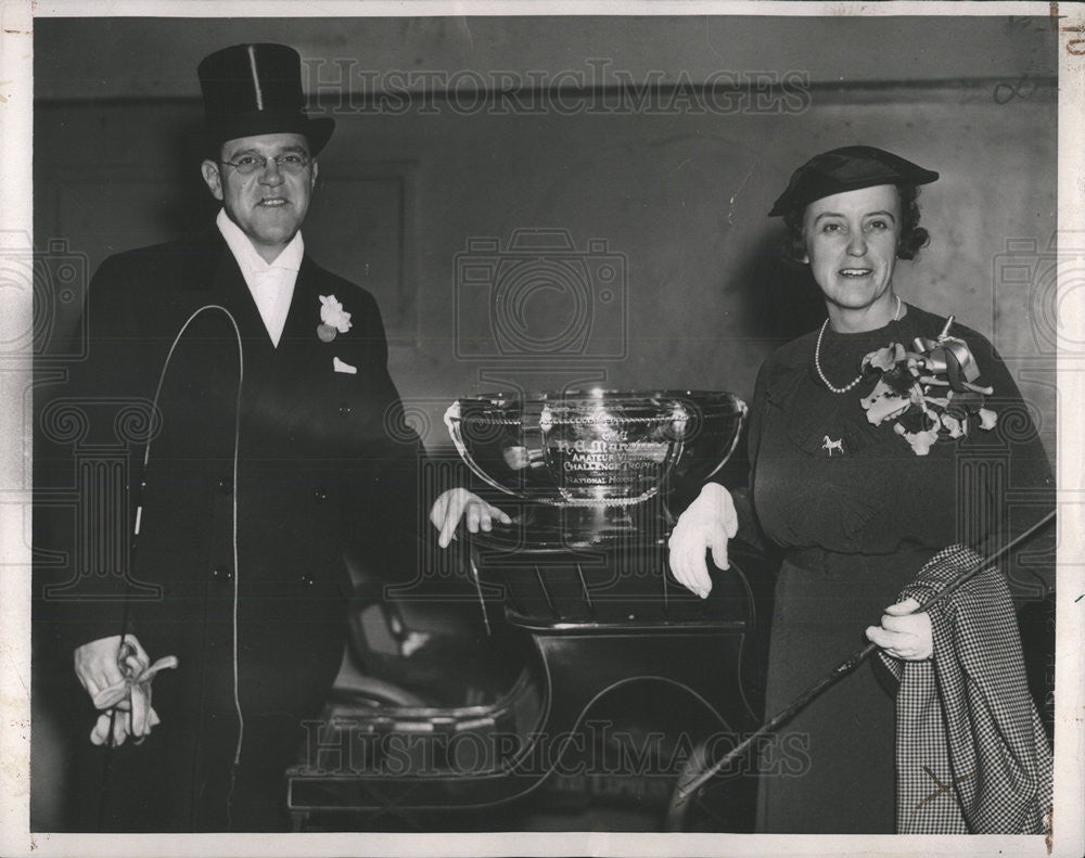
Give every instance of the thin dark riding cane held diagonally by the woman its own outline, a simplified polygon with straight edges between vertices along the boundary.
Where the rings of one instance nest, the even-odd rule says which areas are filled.
[[[1027,530],[1023,532],[1016,538],[1011,539],[1005,546],[999,548],[997,551],[992,553],[990,556],[983,558],[978,563],[973,564],[969,568],[960,573],[956,578],[954,578],[949,584],[945,586],[940,592],[928,599],[923,604],[919,605],[912,613],[921,613],[930,607],[932,607],[936,602],[941,601],[945,597],[953,593],[961,585],[963,585],[969,578],[975,575],[981,569],[990,566],[999,556],[1005,554],[1007,551],[1013,547],[1020,545],[1029,537],[1033,536],[1037,530],[1047,525],[1055,518],[1055,510],[1051,510],[1047,515],[1041,518],[1036,524],[1030,527]],[[690,799],[698,790],[700,790],[713,776],[718,773],[725,767],[730,765],[736,760],[741,754],[745,753],[750,746],[757,741],[761,737],[771,733],[775,730],[782,727],[784,723],[790,721],[795,715],[797,715],[802,709],[804,709],[810,701],[818,696],[822,691],[831,686],[834,686],[840,679],[845,677],[847,674],[852,673],[856,667],[858,667],[863,662],[865,662],[871,653],[878,649],[878,644],[868,643],[859,652],[852,655],[844,662],[841,662],[837,667],[834,667],[830,673],[821,677],[817,682],[812,684],[806,691],[800,694],[794,701],[791,702],[789,706],[778,712],[775,716],[769,718],[765,723],[763,723],[756,732],[751,733],[742,742],[731,748],[727,754],[725,754],[718,761],[713,763],[707,768],[704,768],[700,773],[697,773],[694,768],[693,772],[688,773],[684,770],[678,777],[678,785],[675,789],[674,795],[671,798],[671,804],[667,807],[667,830],[677,831],[678,825],[681,823],[682,815],[685,812],[686,803]],[[694,766],[701,768],[703,766],[703,760],[699,755],[693,755],[690,757],[687,766]]]

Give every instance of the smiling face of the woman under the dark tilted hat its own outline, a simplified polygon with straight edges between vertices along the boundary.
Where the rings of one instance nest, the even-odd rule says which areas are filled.
[[[803,215],[814,280],[840,310],[888,303],[901,238],[901,200],[892,184],[815,200]]]

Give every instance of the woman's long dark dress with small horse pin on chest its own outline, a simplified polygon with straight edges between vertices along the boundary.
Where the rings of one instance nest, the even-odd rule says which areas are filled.
[[[916,336],[936,337],[944,323],[909,307],[876,331],[827,331],[821,366],[844,386],[864,355],[891,342],[910,348]],[[970,345],[980,381],[994,387],[988,407],[998,423],[940,441],[928,456],[912,452],[890,422],[867,420],[859,400],[873,377],[845,394],[826,388],[814,370],[816,331],[761,370],[751,410],[751,497],[764,533],[784,552],[768,715],[866,645],[865,628],[940,549],[965,542],[990,551],[1054,502],[1050,466],[1006,366],[974,331],[955,325],[952,334]],[[1004,571],[1016,596],[1043,596],[1036,567],[1010,563]],[[782,728],[778,765],[763,770],[761,831],[893,833],[894,688],[878,663],[868,659]]]

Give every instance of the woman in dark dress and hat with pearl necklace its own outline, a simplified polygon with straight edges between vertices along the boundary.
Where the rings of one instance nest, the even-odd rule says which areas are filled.
[[[894,604],[901,590],[941,549],[991,551],[1054,502],[1050,466],[1013,380],[992,345],[963,325],[954,323],[952,335],[975,359],[974,386],[991,388],[967,433],[873,422],[879,373],[864,357],[892,343],[908,349],[916,337],[935,340],[946,325],[893,290],[897,258],[912,258],[928,240],[916,185],[936,178],[888,152],[848,146],[796,170],[771,212],[784,217],[828,319],[769,357],[751,409],[752,512],[784,551],[769,715],[861,649],[865,628],[894,658],[929,658],[930,618],[906,616],[916,603]],[[1022,490],[1034,503],[1008,514],[1008,492]],[[744,499],[736,510],[723,486],[705,486],[672,536],[675,577],[706,596],[705,549],[726,564],[727,538],[750,526],[750,512]],[[1043,596],[1046,584],[1034,574],[1004,571],[1014,597]],[[781,741],[800,748],[802,770],[762,774],[760,830],[893,833],[893,690],[880,659],[871,659],[783,728]]]

